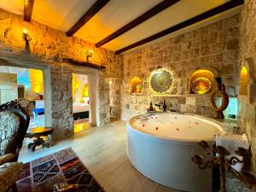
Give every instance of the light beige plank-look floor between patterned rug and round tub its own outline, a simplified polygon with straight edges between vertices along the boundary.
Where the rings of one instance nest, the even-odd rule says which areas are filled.
[[[28,162],[71,147],[107,192],[178,192],[154,183],[131,166],[125,151],[125,122],[80,131],[35,152],[27,150],[28,142],[24,143],[19,160]]]

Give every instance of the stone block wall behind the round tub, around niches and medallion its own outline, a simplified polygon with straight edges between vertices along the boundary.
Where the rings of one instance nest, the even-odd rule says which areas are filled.
[[[209,94],[189,94],[189,74],[196,69],[208,69],[221,76],[229,95],[237,96],[239,25],[240,16],[234,15],[124,55],[122,119],[145,113],[149,102],[163,100],[177,111],[212,116]],[[168,96],[156,96],[149,88],[150,73],[159,67],[166,68],[173,76]],[[143,79],[143,95],[130,95],[129,82],[135,76]]]

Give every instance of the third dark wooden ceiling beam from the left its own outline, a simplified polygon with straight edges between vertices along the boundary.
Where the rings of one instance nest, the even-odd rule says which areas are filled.
[[[139,17],[137,17],[135,20],[131,20],[131,22],[129,22],[125,26],[122,26],[118,31],[113,32],[107,38],[103,38],[101,41],[96,43],[96,45],[95,45],[96,48],[101,47],[103,44],[107,44],[109,41],[113,40],[114,38],[118,38],[120,35],[124,34],[125,32],[130,31],[135,26],[140,25],[145,20],[148,20],[149,18],[153,17],[154,15],[159,14],[161,11],[171,7],[173,4],[175,4],[179,1],[180,0],[164,0],[163,2],[154,6],[154,8],[149,9],[143,15],[140,15]]]

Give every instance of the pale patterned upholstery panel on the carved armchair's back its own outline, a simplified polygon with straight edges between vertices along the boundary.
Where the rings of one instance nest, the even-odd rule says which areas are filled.
[[[17,114],[3,111],[0,112],[0,155],[12,154],[16,150],[17,131],[20,118]]]

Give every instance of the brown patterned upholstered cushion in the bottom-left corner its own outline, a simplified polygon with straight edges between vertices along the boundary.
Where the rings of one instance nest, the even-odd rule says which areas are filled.
[[[0,192],[5,192],[19,178],[23,164],[20,162],[5,163],[0,166]]]

